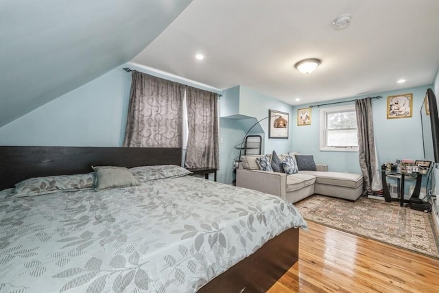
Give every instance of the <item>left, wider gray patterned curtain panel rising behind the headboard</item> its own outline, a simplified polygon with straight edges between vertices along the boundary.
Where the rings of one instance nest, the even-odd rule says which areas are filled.
[[[132,71],[124,147],[181,148],[185,85]]]

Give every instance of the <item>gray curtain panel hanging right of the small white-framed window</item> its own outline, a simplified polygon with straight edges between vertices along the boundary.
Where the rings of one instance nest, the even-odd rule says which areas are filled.
[[[365,190],[380,190],[377,150],[373,131],[372,99],[355,100],[357,114],[359,165],[364,178]]]

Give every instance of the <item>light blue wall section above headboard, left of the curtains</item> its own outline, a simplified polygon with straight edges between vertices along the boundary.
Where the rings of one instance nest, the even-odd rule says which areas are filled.
[[[130,83],[112,70],[0,128],[0,145],[121,145]]]

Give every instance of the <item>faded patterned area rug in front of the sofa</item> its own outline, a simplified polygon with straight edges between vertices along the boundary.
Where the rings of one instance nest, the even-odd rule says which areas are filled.
[[[313,195],[294,204],[305,220],[439,259],[433,215],[362,197],[356,202]]]

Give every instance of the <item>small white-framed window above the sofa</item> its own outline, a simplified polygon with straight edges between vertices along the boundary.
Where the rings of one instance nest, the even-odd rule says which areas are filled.
[[[320,109],[320,150],[358,151],[354,105]]]

